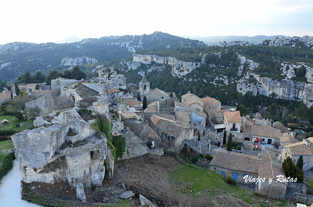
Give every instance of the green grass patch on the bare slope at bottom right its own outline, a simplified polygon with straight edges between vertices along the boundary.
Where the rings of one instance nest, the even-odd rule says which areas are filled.
[[[247,206],[285,206],[286,204],[283,200],[278,201],[269,198],[266,200],[270,202],[266,203],[260,199],[262,197],[255,196],[252,192],[244,188],[228,185],[223,181],[221,176],[210,170],[203,172],[197,168],[184,165],[174,169],[171,176],[173,188],[181,193],[186,189],[187,193],[182,194],[186,194],[191,199],[199,198],[204,195],[209,198],[216,198],[218,196],[218,198],[225,199],[222,204],[224,206],[231,206],[231,204],[234,205],[239,201],[245,202]],[[192,186],[191,189],[187,187],[189,185]],[[190,192],[190,190],[192,191]],[[214,203],[214,205],[216,206],[217,204]]]

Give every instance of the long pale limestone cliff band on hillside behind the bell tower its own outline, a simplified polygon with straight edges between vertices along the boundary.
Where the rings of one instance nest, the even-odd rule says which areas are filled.
[[[154,61],[158,64],[168,64],[172,66],[172,75],[182,77],[188,73],[190,73],[192,70],[199,68],[201,66],[201,63],[198,62],[185,62],[185,61],[179,61],[174,57],[160,57],[156,55],[140,55],[140,54],[134,54],[133,60],[130,62],[127,62],[127,66],[129,70],[136,70],[141,64],[151,64],[151,62]]]

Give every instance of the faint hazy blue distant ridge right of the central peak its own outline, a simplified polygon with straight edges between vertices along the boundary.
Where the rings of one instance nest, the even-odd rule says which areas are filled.
[[[184,36],[184,35],[181,35],[181,37],[189,38],[192,40],[203,41],[204,43],[206,43],[208,45],[217,45],[218,42],[223,42],[223,41],[238,41],[238,40],[250,41],[250,42],[252,42],[252,44],[258,45],[263,40],[271,40],[274,37],[282,38],[282,37],[287,37],[287,36],[284,36],[284,35],[273,35],[273,36],[257,35],[257,36],[249,37],[249,36],[231,35],[231,36],[200,37],[200,36]]]

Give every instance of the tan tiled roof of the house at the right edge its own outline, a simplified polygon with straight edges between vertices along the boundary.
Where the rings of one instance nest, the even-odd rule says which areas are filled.
[[[307,138],[310,146],[306,146],[305,140],[298,143],[290,144],[284,146],[291,155],[313,155],[313,137]]]

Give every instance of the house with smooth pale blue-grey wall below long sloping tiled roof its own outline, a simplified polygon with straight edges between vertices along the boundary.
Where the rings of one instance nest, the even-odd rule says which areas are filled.
[[[186,104],[175,101],[175,114],[177,114],[178,109],[183,109],[190,113],[190,116],[188,116],[190,117],[190,124],[193,124],[193,135],[197,136],[198,134],[200,136],[204,136],[207,118],[206,114],[204,114],[202,111],[198,111],[197,109],[193,109]],[[186,115],[186,113],[184,114]]]

